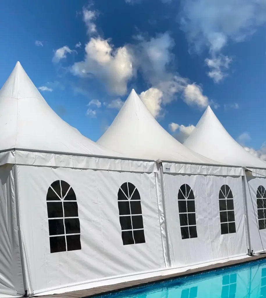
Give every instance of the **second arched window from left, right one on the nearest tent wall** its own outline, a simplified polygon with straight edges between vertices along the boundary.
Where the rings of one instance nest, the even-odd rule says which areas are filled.
[[[117,196],[123,245],[145,243],[140,193],[132,183],[125,182]]]

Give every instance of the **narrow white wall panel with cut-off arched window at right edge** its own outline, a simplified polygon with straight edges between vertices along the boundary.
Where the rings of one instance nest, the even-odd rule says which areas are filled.
[[[263,188],[266,189],[266,170],[257,171],[259,173],[264,172],[263,174],[256,174],[255,169],[251,170],[254,172],[246,172],[245,187],[247,195],[251,250],[253,250],[253,252],[256,254],[266,251],[266,229],[264,226],[259,225],[259,218],[266,218],[266,193],[263,191]],[[261,201],[258,202],[259,204],[257,204],[257,199]],[[263,205],[259,206],[260,203]],[[261,212],[259,216],[258,212]],[[262,214],[264,215],[264,212],[265,216],[262,216]]]

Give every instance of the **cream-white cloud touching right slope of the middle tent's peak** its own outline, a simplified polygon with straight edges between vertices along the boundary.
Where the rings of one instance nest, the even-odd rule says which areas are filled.
[[[146,105],[153,117],[158,117],[161,111],[163,93],[157,88],[150,88],[140,93],[140,99]]]

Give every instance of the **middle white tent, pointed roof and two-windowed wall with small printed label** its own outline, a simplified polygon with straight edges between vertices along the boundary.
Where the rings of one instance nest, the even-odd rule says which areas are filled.
[[[170,266],[247,253],[241,167],[223,167],[185,148],[159,125],[134,90],[97,143],[126,156],[163,161],[163,200],[159,206],[164,205],[160,218],[167,224],[163,243]],[[228,211],[230,222],[220,224],[219,204],[224,203],[219,201],[220,190],[225,185],[223,199],[230,199],[234,206]],[[191,205],[181,201],[187,199]]]

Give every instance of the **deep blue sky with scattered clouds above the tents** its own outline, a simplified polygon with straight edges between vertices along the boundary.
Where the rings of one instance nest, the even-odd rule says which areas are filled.
[[[260,155],[265,21],[264,0],[3,0],[0,85],[19,60],[51,108],[93,141],[132,88],[181,141],[209,104]]]

